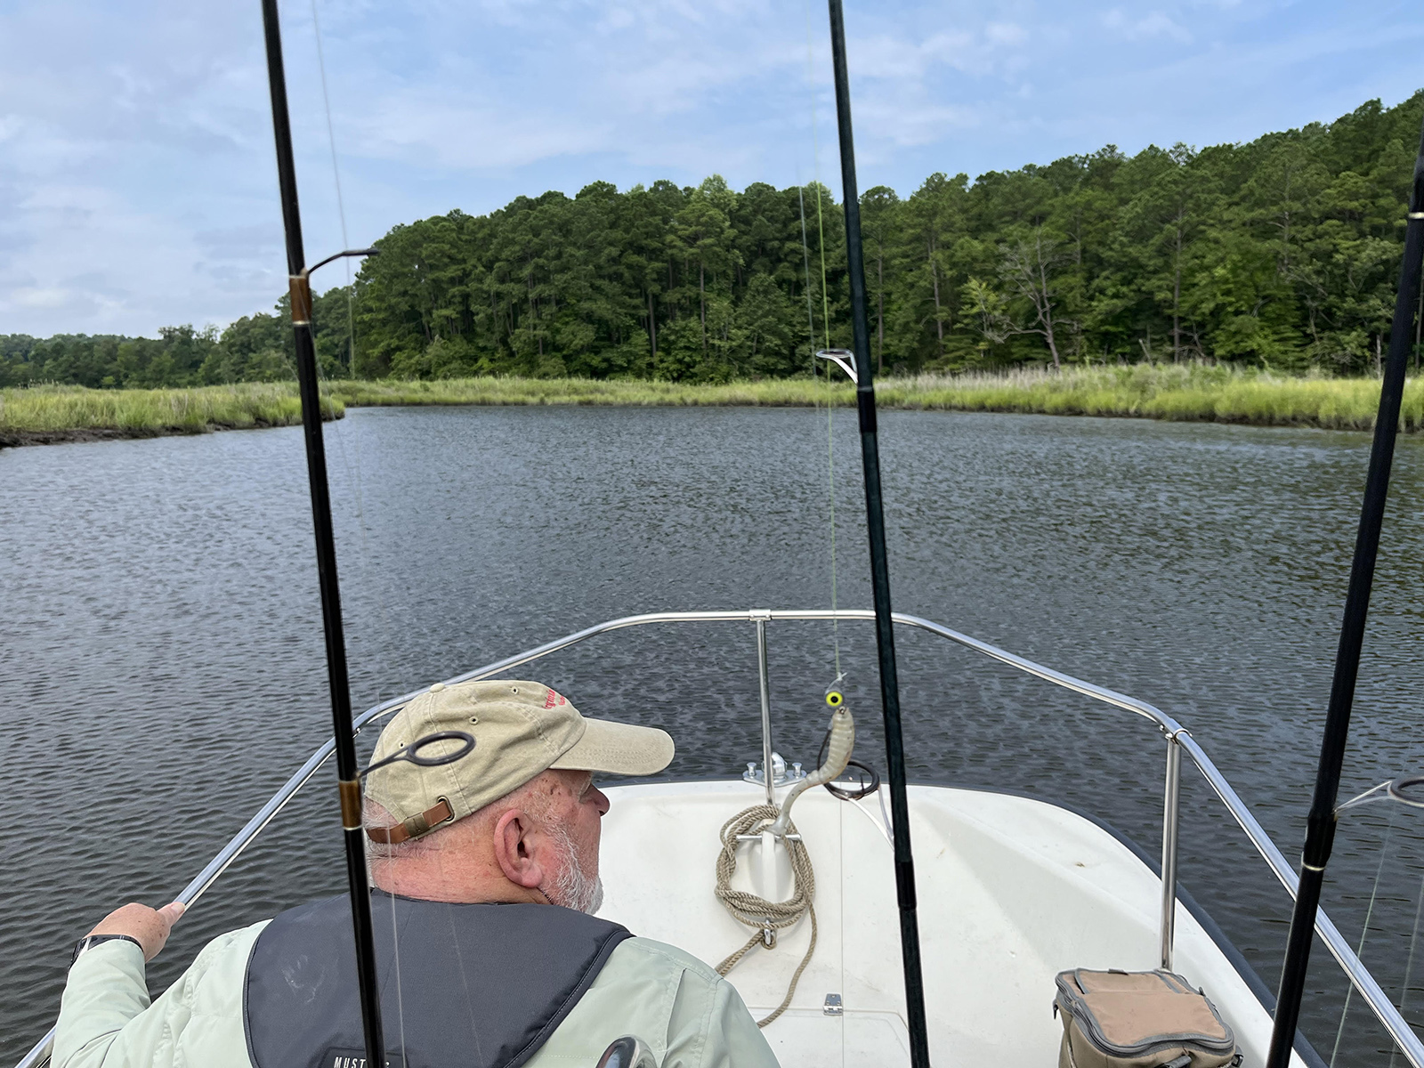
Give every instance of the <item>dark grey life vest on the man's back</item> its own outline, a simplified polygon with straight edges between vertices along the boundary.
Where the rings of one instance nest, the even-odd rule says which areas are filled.
[[[382,891],[372,918],[390,1068],[518,1068],[632,937],[551,904]],[[255,1068],[366,1068],[350,899],[292,909],[262,930],[242,1021]]]

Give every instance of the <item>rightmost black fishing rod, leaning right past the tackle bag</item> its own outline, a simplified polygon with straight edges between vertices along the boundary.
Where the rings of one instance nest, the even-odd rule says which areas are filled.
[[[1336,652],[1330,705],[1320,742],[1320,768],[1316,772],[1316,792],[1306,820],[1306,846],[1300,854],[1300,889],[1296,891],[1296,909],[1290,917],[1290,937],[1286,940],[1286,961],[1280,970],[1276,1022],[1270,1035],[1266,1068],[1286,1068],[1290,1058],[1292,1040],[1300,1020],[1300,998],[1306,987],[1306,965],[1310,963],[1316,910],[1320,906],[1320,886],[1334,844],[1340,768],[1344,763],[1344,745],[1350,735],[1354,684],[1360,674],[1360,648],[1364,644],[1364,624],[1370,612],[1374,561],[1380,551],[1380,525],[1384,521],[1384,503],[1390,491],[1394,439],[1398,434],[1400,402],[1404,397],[1404,372],[1414,339],[1414,308],[1420,296],[1421,262],[1424,262],[1424,128],[1420,130],[1420,148],[1414,158],[1414,185],[1404,225],[1404,262],[1400,265],[1400,289],[1394,300],[1394,322],[1390,325],[1390,357],[1380,384],[1380,413],[1374,420],[1374,443],[1370,447],[1370,468],[1364,478],[1360,530],[1354,540],[1354,562],[1350,565],[1350,587],[1344,600],[1344,619],[1340,624],[1340,648]]]

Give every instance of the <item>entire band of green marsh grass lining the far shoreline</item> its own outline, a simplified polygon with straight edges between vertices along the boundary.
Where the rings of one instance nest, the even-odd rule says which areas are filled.
[[[592,379],[441,379],[329,383],[332,416],[376,404],[621,404],[770,406],[854,404],[849,382],[770,379],[692,386]],[[1136,416],[1183,422],[1252,423],[1368,430],[1378,379],[1287,377],[1208,365],[1132,365],[1008,373],[920,375],[881,379],[881,407]],[[90,390],[38,386],[0,390],[0,444],[85,436],[204,433],[299,423],[295,383],[201,389]],[[1424,379],[1405,384],[1400,426],[1424,430]]]

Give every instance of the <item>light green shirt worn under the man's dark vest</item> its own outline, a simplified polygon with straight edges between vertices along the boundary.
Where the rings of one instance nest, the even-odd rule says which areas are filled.
[[[214,938],[152,1004],[138,947],[120,940],[95,946],[70,970],[53,1068],[252,1068],[242,985],[266,923]],[[386,1032],[387,1041],[399,1034],[394,1021]],[[625,1034],[652,1047],[662,1068],[778,1068],[732,984],[651,938],[619,943],[594,985],[525,1064],[594,1068]]]

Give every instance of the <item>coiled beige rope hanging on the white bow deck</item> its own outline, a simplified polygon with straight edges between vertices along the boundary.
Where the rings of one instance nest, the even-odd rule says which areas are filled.
[[[792,1004],[792,998],[796,995],[796,984],[800,981],[802,973],[806,971],[806,965],[810,964],[810,957],[816,951],[816,906],[813,904],[816,899],[816,871],[810,866],[810,854],[806,852],[806,846],[790,837],[790,834],[796,833],[795,823],[787,823],[786,829],[789,833],[780,840],[786,846],[786,854],[792,862],[792,896],[785,901],[768,901],[759,894],[732,889],[732,876],[736,871],[738,836],[759,834],[776,820],[776,816],[778,809],[775,805],[753,805],[750,809],[736,813],[722,824],[722,852],[716,859],[718,900],[722,901],[733,920],[756,928],[756,934],[748,938],[742,948],[716,965],[718,975],[726,975],[735,968],[742,957],[752,951],[753,946],[762,943],[765,931],[772,931],[770,941],[765,944],[768,948],[775,948],[776,931],[795,927],[803,916],[810,916],[810,944],[806,947],[806,956],[796,965],[782,1004],[765,1020],[758,1020],[758,1027],[766,1027]]]

